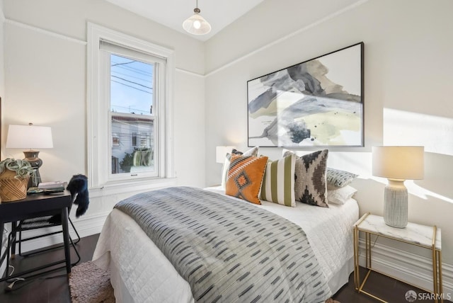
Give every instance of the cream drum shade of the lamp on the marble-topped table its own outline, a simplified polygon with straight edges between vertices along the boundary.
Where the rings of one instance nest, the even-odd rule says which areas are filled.
[[[373,147],[373,176],[398,180],[423,179],[424,147]]]

